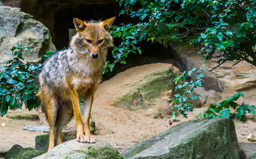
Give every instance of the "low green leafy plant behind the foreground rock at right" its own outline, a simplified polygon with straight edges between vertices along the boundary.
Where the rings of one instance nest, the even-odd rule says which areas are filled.
[[[256,107],[254,105],[240,105],[234,101],[238,100],[240,96],[244,96],[243,93],[238,93],[236,95],[233,95],[228,100],[223,100],[221,103],[218,103],[216,105],[210,104],[209,108],[205,110],[203,113],[200,113],[197,118],[198,119],[211,119],[211,118],[230,118],[232,115],[236,115],[236,117],[240,120],[245,121],[246,117],[246,111],[248,113],[255,114]],[[230,107],[232,107],[234,110],[233,113],[230,113]]]

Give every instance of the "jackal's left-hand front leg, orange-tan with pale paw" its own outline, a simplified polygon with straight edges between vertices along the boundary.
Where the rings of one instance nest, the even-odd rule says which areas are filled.
[[[81,111],[80,111],[80,101],[79,101],[79,95],[77,92],[71,90],[70,92],[71,96],[71,101],[73,105],[73,111],[74,111],[74,116],[76,120],[76,140],[81,143],[86,143],[86,137],[83,135],[83,125],[82,125],[82,116],[81,116]]]

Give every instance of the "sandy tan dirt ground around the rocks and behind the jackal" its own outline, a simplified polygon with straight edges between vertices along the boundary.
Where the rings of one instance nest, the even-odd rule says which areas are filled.
[[[196,115],[204,109],[204,107],[195,109],[193,113],[188,115],[187,119],[181,116],[178,116],[177,119],[180,122],[195,119]],[[23,127],[26,125],[48,125],[45,115],[42,112],[36,110],[28,111],[23,108],[22,110],[9,111],[7,114],[14,112],[37,114],[40,121],[10,120],[6,115],[0,118],[0,124],[6,123],[6,126],[0,126],[0,150],[9,150],[15,144],[23,147],[34,147],[36,135],[42,133],[26,131],[23,130]],[[140,111],[131,111],[105,105],[93,105],[92,118],[96,122],[97,134],[93,135],[95,139],[106,141],[119,151],[123,151],[140,141],[154,137],[158,133],[180,123],[174,122],[172,126],[168,126],[168,121],[165,121],[166,118],[153,119],[152,117],[145,116]],[[244,123],[234,120],[234,124],[236,125],[238,142],[249,142],[246,140],[246,137],[250,133],[256,135],[255,121],[248,120]],[[65,129],[74,128],[74,120],[71,120],[65,127]]]

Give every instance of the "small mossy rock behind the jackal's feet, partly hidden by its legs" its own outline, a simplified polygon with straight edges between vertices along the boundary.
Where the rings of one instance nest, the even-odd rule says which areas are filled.
[[[62,131],[61,132],[62,142],[66,142],[76,138],[76,131]],[[47,151],[49,145],[49,133],[37,135],[35,137],[35,149]],[[57,145],[55,137],[55,145]]]

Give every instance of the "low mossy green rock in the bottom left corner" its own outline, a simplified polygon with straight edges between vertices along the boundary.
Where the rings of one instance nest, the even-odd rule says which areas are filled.
[[[45,153],[45,151],[35,150],[31,147],[23,148],[22,146],[14,145],[5,155],[5,159],[27,159],[39,156],[43,153]]]

